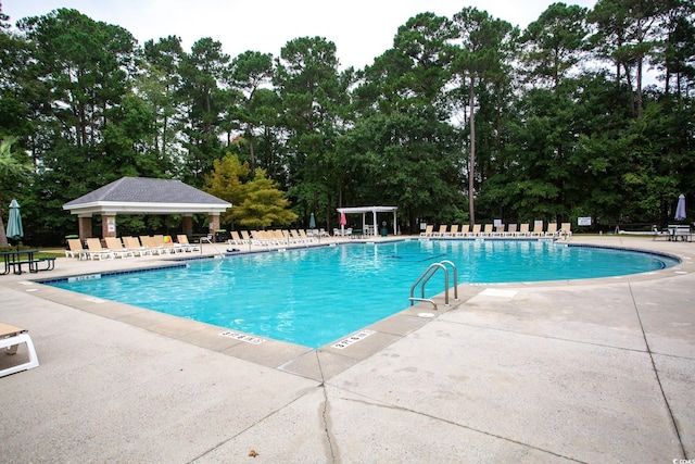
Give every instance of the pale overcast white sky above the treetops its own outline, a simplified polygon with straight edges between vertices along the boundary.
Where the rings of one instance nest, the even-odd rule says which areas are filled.
[[[231,58],[247,50],[280,54],[298,37],[324,37],[336,43],[340,67],[362,68],[393,45],[400,26],[418,13],[452,17],[466,7],[486,11],[521,28],[539,18],[551,0],[0,0],[14,24],[59,8],[78,10],[116,24],[135,38],[181,38],[184,49],[203,37],[222,43]],[[566,0],[593,8],[595,0]]]

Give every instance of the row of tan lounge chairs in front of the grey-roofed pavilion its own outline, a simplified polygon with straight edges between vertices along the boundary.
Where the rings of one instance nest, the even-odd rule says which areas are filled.
[[[104,244],[98,238],[88,238],[87,248],[79,239],[68,239],[65,256],[79,260],[113,260],[114,258],[147,256],[199,251],[200,247],[188,242],[186,235],[177,236],[174,242],[170,236],[105,237]]]

